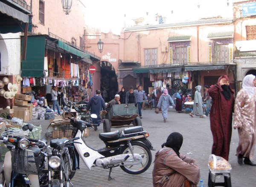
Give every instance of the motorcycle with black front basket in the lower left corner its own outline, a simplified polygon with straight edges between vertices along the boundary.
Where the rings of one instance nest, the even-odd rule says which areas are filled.
[[[22,130],[32,132],[32,125],[24,125]],[[9,151],[5,155],[3,167],[0,171],[3,187],[46,187],[45,181],[45,155],[41,149],[46,142],[40,139],[12,136],[21,130],[9,130],[0,137]],[[37,144],[35,143],[37,142]],[[43,145],[43,147],[41,146]]]

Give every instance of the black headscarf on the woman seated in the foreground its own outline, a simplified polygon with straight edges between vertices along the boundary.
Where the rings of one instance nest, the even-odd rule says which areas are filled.
[[[175,153],[177,154],[178,157],[180,157],[180,147],[183,143],[183,136],[180,134],[180,133],[171,133],[166,142],[162,144],[162,148],[163,146],[166,146],[166,147],[170,147],[172,148]]]

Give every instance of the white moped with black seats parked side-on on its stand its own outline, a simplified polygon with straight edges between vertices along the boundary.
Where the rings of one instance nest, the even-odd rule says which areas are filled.
[[[96,114],[91,115],[96,118]],[[90,122],[84,122],[79,119],[70,119],[70,124],[76,127],[73,138],[79,138],[74,144],[77,155],[90,170],[91,167],[103,167],[109,170],[108,180],[111,177],[113,167],[120,166],[126,173],[137,175],[145,172],[151,164],[152,154],[150,150],[154,150],[151,142],[147,139],[149,134],[142,126],[129,127],[122,130],[100,133],[99,138],[105,143],[106,147],[95,150],[82,140],[84,129],[91,127]],[[56,145],[58,146],[58,145]],[[79,168],[79,159],[73,159],[73,164]]]

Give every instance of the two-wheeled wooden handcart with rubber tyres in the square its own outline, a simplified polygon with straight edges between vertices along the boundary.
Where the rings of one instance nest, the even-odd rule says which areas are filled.
[[[110,132],[111,128],[142,126],[138,116],[138,108],[134,104],[112,105],[103,122],[104,133]]]

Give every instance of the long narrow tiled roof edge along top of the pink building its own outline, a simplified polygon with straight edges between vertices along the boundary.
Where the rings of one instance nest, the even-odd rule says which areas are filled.
[[[153,28],[163,28],[163,27],[175,27],[175,26],[191,26],[191,25],[203,25],[203,24],[215,24],[222,22],[232,22],[233,19],[230,18],[221,18],[221,19],[209,19],[209,20],[197,20],[197,21],[186,21],[186,22],[177,22],[177,23],[166,23],[166,24],[157,24],[157,25],[146,25],[146,26],[135,26],[127,27],[124,31],[134,31],[142,29],[153,29]]]

